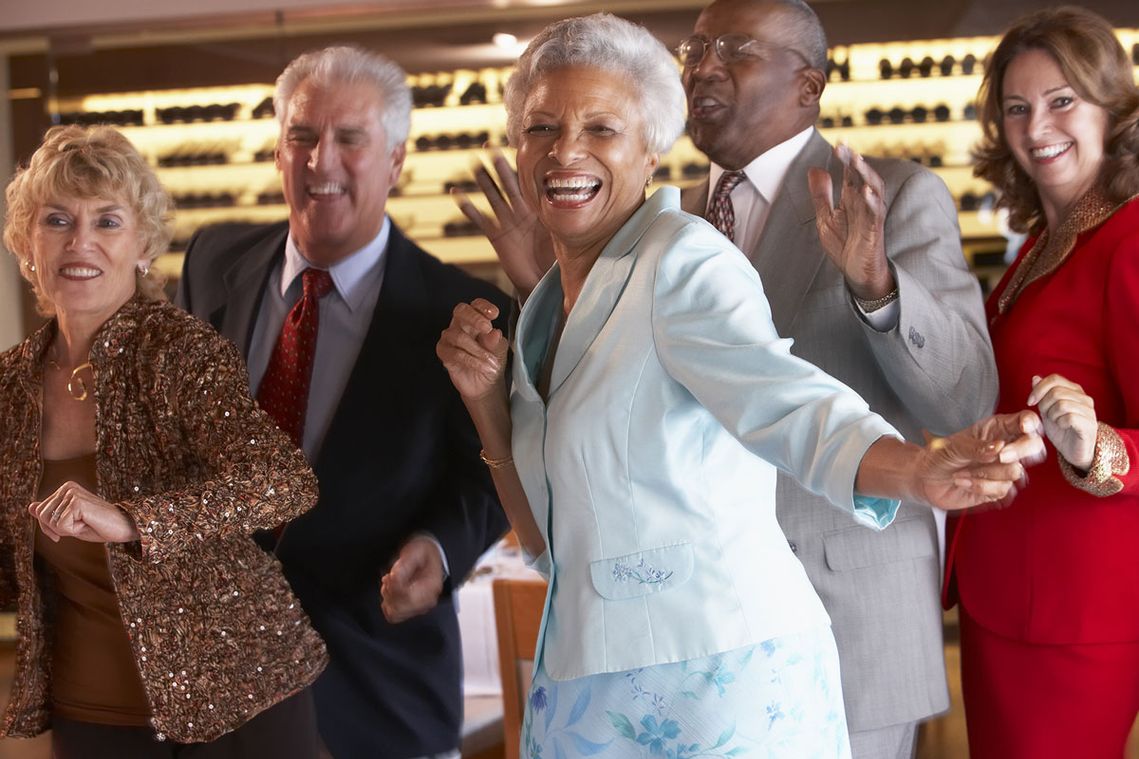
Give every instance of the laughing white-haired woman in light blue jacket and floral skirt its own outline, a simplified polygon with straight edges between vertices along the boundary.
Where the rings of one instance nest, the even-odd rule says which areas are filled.
[[[919,448],[792,356],[739,251],[674,188],[645,197],[685,121],[645,30],[549,26],[506,104],[556,263],[519,317],[509,399],[492,304],[457,307],[439,353],[550,578],[522,756],[849,756],[829,620],[776,522],[776,468],[880,529],[901,498],[1009,497],[1039,421]]]

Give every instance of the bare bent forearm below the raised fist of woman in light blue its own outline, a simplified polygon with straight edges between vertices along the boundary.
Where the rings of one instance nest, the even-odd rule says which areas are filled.
[[[534,521],[533,512],[530,511],[530,501],[526,500],[522,480],[518,479],[518,472],[514,467],[510,449],[513,425],[506,390],[502,389],[489,398],[464,399],[464,402],[483,443],[483,455],[492,462],[491,479],[494,481],[502,509],[510,520],[510,527],[518,534],[518,541],[527,554],[541,556],[546,552],[546,541],[542,539],[538,522]]]

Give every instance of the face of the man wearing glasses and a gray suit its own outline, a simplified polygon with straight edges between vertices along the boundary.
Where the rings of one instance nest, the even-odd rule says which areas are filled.
[[[693,33],[705,41],[746,34],[759,42],[753,55],[729,64],[710,46],[699,65],[683,71],[688,133],[724,169],[743,169],[818,117],[826,81],[793,49],[785,13],[773,3],[719,0],[696,21]]]

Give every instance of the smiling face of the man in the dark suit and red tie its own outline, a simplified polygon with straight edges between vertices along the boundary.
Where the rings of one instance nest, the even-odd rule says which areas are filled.
[[[302,82],[281,119],[277,168],[289,231],[309,261],[331,266],[367,245],[384,222],[405,148],[387,147],[376,88]]]

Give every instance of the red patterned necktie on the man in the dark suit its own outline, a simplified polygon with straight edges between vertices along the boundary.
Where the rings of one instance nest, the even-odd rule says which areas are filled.
[[[323,269],[305,269],[301,278],[304,294],[285,317],[269,368],[257,389],[261,408],[297,448],[304,439],[304,414],[309,407],[312,357],[317,351],[320,299],[333,288],[333,278]]]

